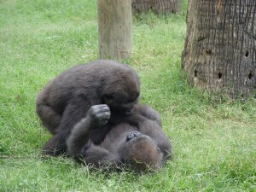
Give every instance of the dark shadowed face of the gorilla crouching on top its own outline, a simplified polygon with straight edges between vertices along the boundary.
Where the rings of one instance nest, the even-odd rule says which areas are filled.
[[[133,94],[112,93],[103,96],[103,102],[108,105],[111,112],[129,115],[139,100],[139,92]]]

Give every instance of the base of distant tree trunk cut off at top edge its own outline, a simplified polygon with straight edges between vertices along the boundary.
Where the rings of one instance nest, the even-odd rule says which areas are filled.
[[[147,13],[152,10],[155,14],[180,13],[182,0],[132,0],[133,13]]]

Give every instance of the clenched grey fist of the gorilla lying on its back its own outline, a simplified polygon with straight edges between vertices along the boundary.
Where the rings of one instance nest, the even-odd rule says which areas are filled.
[[[98,128],[108,123],[110,109],[108,105],[94,105],[90,107],[87,115],[90,118],[90,124]]]

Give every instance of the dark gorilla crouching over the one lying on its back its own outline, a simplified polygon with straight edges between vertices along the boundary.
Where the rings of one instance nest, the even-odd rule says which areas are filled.
[[[131,67],[115,61],[92,61],[71,67],[47,84],[37,97],[37,113],[43,125],[53,134],[43,153],[67,152],[67,137],[74,125],[87,116],[91,106],[107,104],[111,111],[108,124],[90,134],[95,144],[102,143],[114,125],[136,125],[130,118],[133,108],[148,119],[159,115],[152,108],[137,105],[140,82]]]

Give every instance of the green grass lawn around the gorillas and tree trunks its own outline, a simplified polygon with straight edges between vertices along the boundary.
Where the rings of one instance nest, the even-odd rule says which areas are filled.
[[[211,96],[180,71],[181,15],[133,17],[142,102],[160,111],[175,158],[159,172],[106,173],[42,159],[35,97],[58,73],[98,57],[96,0],[0,0],[0,191],[255,191],[256,104]]]

